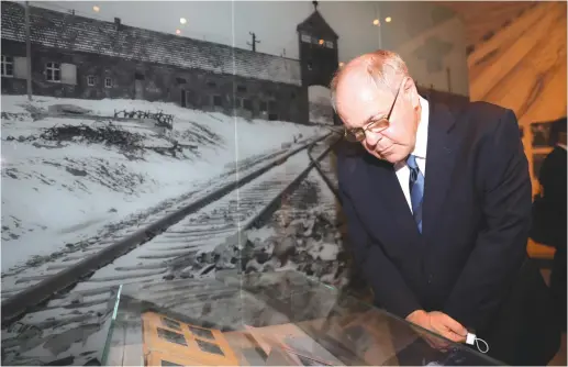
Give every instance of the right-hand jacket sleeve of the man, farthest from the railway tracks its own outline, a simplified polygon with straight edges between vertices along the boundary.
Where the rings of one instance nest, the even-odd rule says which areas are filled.
[[[444,311],[464,326],[487,330],[526,256],[531,178],[519,125],[505,110],[480,143],[483,226]]]

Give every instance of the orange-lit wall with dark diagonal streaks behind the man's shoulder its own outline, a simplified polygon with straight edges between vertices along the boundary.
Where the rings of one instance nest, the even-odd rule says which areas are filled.
[[[536,192],[534,163],[552,147],[535,144],[532,130],[565,116],[567,109],[566,2],[542,2],[513,15],[469,55],[470,98],[515,112]]]

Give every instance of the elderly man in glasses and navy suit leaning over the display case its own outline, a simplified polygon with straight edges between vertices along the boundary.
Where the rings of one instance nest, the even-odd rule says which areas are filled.
[[[399,55],[377,51],[334,77],[332,103],[359,152],[339,153],[356,263],[377,305],[509,364],[546,364],[559,331],[526,259],[527,160],[511,110],[419,94]]]

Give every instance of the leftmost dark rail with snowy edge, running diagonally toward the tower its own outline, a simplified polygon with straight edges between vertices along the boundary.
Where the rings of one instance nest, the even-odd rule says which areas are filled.
[[[86,269],[97,269],[100,266],[101,259],[96,258],[96,255],[109,259],[118,257],[120,253],[126,252],[131,247],[149,240],[159,233],[162,229],[166,227],[167,224],[175,223],[176,220],[183,218],[183,215],[227,194],[236,189],[238,185],[246,184],[309,145],[309,143],[304,143],[303,146],[300,145],[290,151],[277,151],[254,160],[241,162],[238,165],[240,182],[235,180],[235,173],[230,170],[227,174],[219,177],[218,181],[205,182],[204,186],[200,187],[201,190],[198,187],[180,197],[176,202],[166,202],[149,210],[149,213],[145,215],[135,215],[120,225],[110,227],[108,235],[103,234],[79,242],[77,245],[66,248],[55,256],[51,256],[51,258],[42,262],[38,266],[3,274],[1,290],[2,323],[4,323],[5,319],[13,318],[14,313],[22,312],[22,304],[40,303],[42,301],[40,294],[45,293],[47,288],[49,291],[47,294],[43,294],[44,298],[69,286],[62,283],[62,281],[53,283],[53,280],[57,279],[55,278],[56,274],[62,278],[62,273],[73,270],[73,274],[65,276],[66,279],[82,277],[86,274]],[[116,244],[121,242],[122,245],[118,246]],[[86,262],[87,259],[89,262]],[[52,282],[46,283],[46,281]],[[12,305],[16,305],[16,308],[14,309]]]

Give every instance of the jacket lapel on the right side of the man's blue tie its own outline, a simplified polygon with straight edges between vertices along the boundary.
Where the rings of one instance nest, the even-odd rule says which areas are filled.
[[[452,138],[455,118],[443,104],[430,103],[428,143],[426,148],[426,175],[424,182],[424,203],[422,234],[433,233],[450,188],[452,173],[457,156],[457,138]]]

